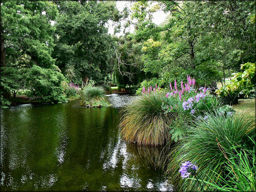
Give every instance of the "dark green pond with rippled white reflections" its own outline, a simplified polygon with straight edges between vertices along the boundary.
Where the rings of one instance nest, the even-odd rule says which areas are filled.
[[[1,110],[1,190],[172,190],[154,164],[161,149],[123,141],[118,111],[130,95],[109,96],[113,107],[79,101]]]

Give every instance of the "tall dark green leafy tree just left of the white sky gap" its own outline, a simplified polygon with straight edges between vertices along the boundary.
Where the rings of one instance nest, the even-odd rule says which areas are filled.
[[[114,41],[105,27],[109,19],[118,20],[114,2],[59,1],[56,22],[55,51],[57,65],[62,69],[68,60],[75,64],[76,75],[83,83],[92,78],[102,82],[108,73]],[[72,15],[72,17],[70,16]]]

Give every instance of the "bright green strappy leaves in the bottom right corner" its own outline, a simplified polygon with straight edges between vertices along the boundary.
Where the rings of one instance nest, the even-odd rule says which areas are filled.
[[[223,177],[216,177],[214,180],[218,181],[216,186],[209,186],[209,190],[221,191],[255,191],[255,139],[250,138],[253,144],[252,148],[244,148],[241,145],[232,147],[230,150],[223,148],[223,153],[229,156],[226,162],[225,170],[229,173]]]

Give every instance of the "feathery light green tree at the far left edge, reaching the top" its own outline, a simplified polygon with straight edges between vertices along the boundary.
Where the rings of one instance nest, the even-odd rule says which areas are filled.
[[[47,1],[1,3],[1,100],[25,86],[23,73],[33,65],[55,69],[52,59],[57,7]],[[3,104],[3,103],[2,103]]]

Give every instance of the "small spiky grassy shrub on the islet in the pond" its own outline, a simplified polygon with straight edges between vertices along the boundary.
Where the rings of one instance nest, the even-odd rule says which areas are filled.
[[[88,107],[110,106],[102,87],[85,87],[81,93],[80,105]]]

